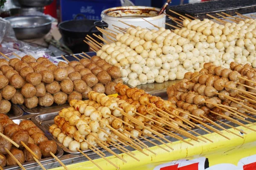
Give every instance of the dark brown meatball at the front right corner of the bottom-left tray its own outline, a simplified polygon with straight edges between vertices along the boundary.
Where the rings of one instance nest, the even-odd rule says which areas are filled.
[[[57,152],[57,145],[54,141],[40,142],[38,147],[40,148],[41,153],[44,157],[50,157],[50,152],[52,152],[53,154]]]

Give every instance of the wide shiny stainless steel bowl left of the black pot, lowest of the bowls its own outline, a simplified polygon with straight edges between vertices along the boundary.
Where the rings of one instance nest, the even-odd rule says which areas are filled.
[[[18,40],[29,40],[41,38],[46,35],[50,29],[53,20],[44,16],[20,16],[7,17]]]

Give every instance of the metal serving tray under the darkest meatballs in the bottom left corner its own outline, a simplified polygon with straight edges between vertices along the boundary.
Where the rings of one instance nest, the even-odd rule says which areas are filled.
[[[17,119],[12,119],[13,122],[15,122],[16,124],[20,124],[20,122],[22,122],[23,120],[27,120],[25,117],[20,117]],[[51,138],[45,134],[45,136],[51,140]],[[58,158],[60,158],[63,155],[63,150],[57,145],[57,152],[55,154],[55,156],[57,156]],[[49,157],[49,158],[43,158],[43,159],[39,159],[39,161],[44,165],[47,164],[48,161],[53,161],[55,160],[53,157]],[[36,163],[36,161],[29,161],[29,162],[24,162],[23,167],[25,167],[26,169],[34,169],[36,167],[40,167],[38,165],[38,163]],[[20,169],[20,167],[18,165],[12,165],[12,166],[8,166],[8,167],[3,167],[4,170],[15,170],[15,169]]]

